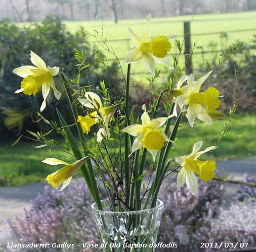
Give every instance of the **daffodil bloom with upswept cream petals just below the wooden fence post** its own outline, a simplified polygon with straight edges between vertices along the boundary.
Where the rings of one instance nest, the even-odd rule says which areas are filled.
[[[211,118],[222,118],[224,114],[216,111],[220,106],[221,100],[219,99],[220,91],[215,87],[210,87],[204,92],[200,92],[200,88],[204,81],[212,71],[201,77],[198,81],[195,81],[194,76],[184,76],[174,90],[174,102],[182,109],[187,105],[186,116],[188,118],[191,127],[194,125],[195,118],[204,121],[206,124],[211,125]],[[187,81],[187,85],[183,86],[183,83]],[[175,107],[174,114],[177,115]]]

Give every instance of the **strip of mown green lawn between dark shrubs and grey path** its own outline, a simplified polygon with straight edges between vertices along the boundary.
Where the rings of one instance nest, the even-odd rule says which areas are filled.
[[[170,157],[176,157],[191,152],[195,142],[202,140],[203,148],[216,142],[223,130],[224,120],[217,120],[214,125],[208,127],[199,120],[191,129],[187,122],[178,133],[178,142]],[[256,114],[236,115],[231,125],[231,130],[219,144],[219,148],[214,152],[204,156],[215,160],[225,160],[232,158],[242,158],[256,156],[255,131]],[[61,160],[72,162],[67,154],[54,149],[34,149],[34,142],[22,143],[11,147],[9,144],[1,144],[0,147],[0,185],[15,185],[44,181],[47,174],[52,173],[57,168],[43,164],[40,161],[55,157]],[[149,156],[148,161],[151,160]]]

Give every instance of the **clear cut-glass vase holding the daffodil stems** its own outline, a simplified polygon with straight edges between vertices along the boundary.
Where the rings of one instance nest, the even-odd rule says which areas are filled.
[[[157,243],[163,203],[156,207],[127,212],[113,212],[107,200],[102,200],[103,211],[96,204],[92,211],[101,238],[101,248],[106,252],[153,252]],[[146,201],[141,202],[141,209]],[[150,202],[149,202],[150,206]]]

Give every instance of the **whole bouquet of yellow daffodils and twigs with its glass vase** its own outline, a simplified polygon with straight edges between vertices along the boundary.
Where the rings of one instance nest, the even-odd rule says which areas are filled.
[[[81,85],[80,77],[90,69],[83,50],[75,49],[76,80],[68,79],[59,67],[47,66],[32,51],[33,66],[22,66],[13,71],[23,78],[21,89],[16,93],[32,96],[38,90],[42,92],[38,121],[44,121],[51,129],[46,133],[29,132],[34,140],[42,142],[37,147],[54,146],[72,155],[74,160],[73,163],[56,158],[42,160],[49,165],[63,166],[49,174],[46,180],[53,187],[62,185],[61,191],[76,173],[82,173],[95,201],[92,211],[104,251],[155,250],[164,207],[157,197],[166,176],[178,173],[178,187],[186,183],[192,195],[197,192],[198,178],[208,181],[215,177],[216,163],[199,158],[215,150],[216,145],[201,150],[202,141],[199,141],[190,154],[181,153],[180,157],[170,158],[172,148],[179,145],[176,137],[182,119],[188,120],[193,127],[196,119],[211,125],[213,119],[224,116],[217,111],[221,104],[219,90],[209,87],[201,91],[212,71],[197,79],[192,74],[181,76],[184,68],[180,67],[179,57],[183,42],[176,40],[179,56],[174,57],[171,67],[167,53],[172,44],[166,36],[150,37],[150,19],[149,14],[143,38],[129,29],[135,47],[124,59],[127,64],[125,93],[116,99],[112,99],[104,81],[98,88]],[[170,80],[150,95],[149,103],[142,106],[143,112],[137,119],[139,112],[130,105],[130,72],[131,65],[141,59],[151,73],[151,86],[160,77],[156,63],[167,65]],[[54,81],[57,76],[62,84],[58,89]],[[42,115],[51,89],[56,99],[65,96],[71,119],[67,118],[67,111],[58,107],[58,120]],[[60,141],[60,137],[48,138],[52,132],[64,141]],[[146,162],[150,162],[150,167]],[[170,170],[173,163],[177,163],[177,167]]]

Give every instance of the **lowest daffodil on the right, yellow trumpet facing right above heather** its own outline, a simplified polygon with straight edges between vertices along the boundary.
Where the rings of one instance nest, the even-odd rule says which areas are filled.
[[[214,161],[200,161],[197,158],[208,151],[215,150],[217,146],[210,146],[204,151],[199,151],[202,144],[202,141],[195,143],[191,154],[175,159],[182,167],[177,175],[177,185],[180,187],[186,182],[192,195],[197,192],[197,176],[195,173],[204,181],[208,181],[215,176],[216,163]]]

